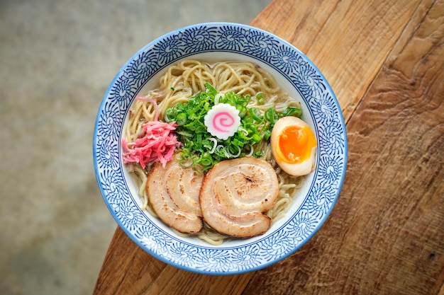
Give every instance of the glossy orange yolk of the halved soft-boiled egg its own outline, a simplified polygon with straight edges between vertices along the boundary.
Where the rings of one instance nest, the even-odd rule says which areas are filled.
[[[316,138],[308,126],[287,126],[279,135],[279,151],[287,163],[302,163],[310,157]]]

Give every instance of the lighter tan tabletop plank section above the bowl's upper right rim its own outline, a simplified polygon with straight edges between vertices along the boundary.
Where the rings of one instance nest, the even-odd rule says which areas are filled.
[[[348,122],[420,3],[274,0],[252,25],[291,42],[318,66]]]

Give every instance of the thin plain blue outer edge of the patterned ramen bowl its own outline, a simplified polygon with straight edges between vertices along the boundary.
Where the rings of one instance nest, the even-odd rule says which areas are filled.
[[[142,54],[143,52],[146,52],[147,50],[149,50],[150,48],[154,47],[155,45],[157,45],[158,43],[162,42],[162,40],[166,40],[169,37],[172,37],[174,35],[177,35],[181,32],[184,32],[186,30],[193,30],[195,28],[209,28],[209,27],[221,27],[221,26],[229,26],[229,27],[233,27],[233,28],[240,28],[240,29],[244,29],[244,30],[249,30],[251,32],[255,32],[255,33],[260,33],[269,37],[272,37],[273,40],[276,40],[277,42],[279,42],[279,45],[283,45],[284,47],[288,47],[289,49],[293,50],[294,52],[296,52],[297,54],[299,54],[299,57],[301,57],[304,62],[306,62],[307,64],[309,64],[309,66],[311,66],[311,68],[316,71],[316,74],[318,75],[319,79],[321,79],[321,81],[323,81],[323,85],[325,86],[325,91],[327,93],[329,93],[331,95],[331,103],[333,103],[333,108],[335,108],[335,110],[339,110],[339,112],[337,114],[335,114],[336,119],[338,119],[338,125],[340,126],[340,129],[342,131],[341,136],[342,136],[342,140],[343,140],[343,153],[341,154],[342,156],[342,167],[340,168],[340,178],[338,178],[338,184],[336,186],[335,192],[334,192],[334,196],[333,199],[331,200],[330,206],[328,207],[328,209],[326,210],[325,214],[323,214],[322,218],[319,219],[318,223],[316,224],[316,226],[310,231],[309,235],[306,236],[304,238],[303,241],[301,241],[300,243],[298,243],[296,245],[296,247],[293,247],[291,250],[289,250],[287,253],[285,253],[284,255],[279,256],[279,258],[277,259],[273,259],[270,260],[268,262],[262,263],[260,265],[253,265],[252,267],[247,267],[245,269],[237,269],[237,270],[202,270],[202,269],[196,269],[194,267],[189,267],[186,265],[180,265],[177,262],[172,261],[170,258],[166,258],[165,256],[159,255],[157,253],[155,253],[152,249],[148,249],[147,245],[145,245],[144,243],[142,243],[140,241],[140,238],[136,238],[133,231],[131,231],[130,229],[127,228],[127,226],[125,224],[123,224],[123,221],[121,221],[121,219],[118,218],[118,216],[115,213],[115,210],[113,209],[112,204],[108,201],[108,199],[106,199],[106,192],[104,190],[103,184],[101,183],[101,177],[100,177],[100,170],[101,168],[99,167],[99,162],[97,161],[98,155],[99,155],[99,150],[97,149],[97,144],[98,144],[98,134],[99,134],[99,124],[101,122],[101,111],[104,110],[105,106],[106,106],[106,101],[109,98],[109,95],[111,93],[111,91],[113,91],[113,86],[116,84],[116,81],[118,81],[119,77],[122,76],[123,73],[125,73],[126,69],[128,69],[129,66],[131,66],[131,63],[134,62],[136,59],[138,59],[138,57],[140,57],[140,54]],[[218,50],[216,50],[218,51]],[[240,52],[239,52],[240,53]],[[240,53],[242,54],[242,53]],[[161,71],[162,69],[165,69],[167,66],[170,66],[171,64],[177,63],[179,60],[187,58],[186,57],[181,57],[180,59],[174,59],[173,62],[164,64],[163,66],[160,66],[159,69],[157,69],[157,71],[155,72],[155,74],[159,71]],[[152,76],[155,76],[155,74],[152,74]],[[281,73],[283,75],[285,75],[285,73]],[[151,77],[152,77],[151,76]],[[147,80],[148,81],[148,80]],[[141,88],[138,88],[138,91],[135,92],[138,93],[140,91]],[[299,90],[297,90],[299,91]],[[131,100],[132,102],[133,100]],[[305,102],[304,102],[305,103]],[[130,103],[131,105],[131,103]],[[307,104],[307,108],[309,107],[309,105]],[[313,119],[314,121],[314,119]],[[123,123],[122,123],[123,125]],[[121,131],[121,130],[120,130]],[[119,137],[118,139],[120,139],[120,134],[121,132],[118,133]],[[316,132],[317,134],[317,132]],[[118,145],[120,144],[120,141],[118,141]],[[319,158],[319,149],[320,149],[320,144],[318,144],[318,151],[317,151],[317,155],[316,158]],[[119,149],[120,151],[120,149]],[[120,158],[121,155],[118,154],[118,158]],[[347,135],[346,135],[346,131],[345,131],[345,121],[343,118],[343,114],[342,111],[340,109],[340,105],[338,103],[338,100],[335,96],[335,93],[333,93],[333,89],[331,88],[330,84],[328,83],[328,81],[326,80],[325,76],[323,76],[323,74],[321,73],[321,71],[317,68],[317,66],[315,64],[313,64],[313,62],[311,61],[311,59],[309,59],[308,57],[306,57],[306,55],[304,53],[302,53],[299,49],[297,49],[294,45],[290,44],[289,42],[287,42],[286,40],[283,40],[281,37],[278,37],[277,35],[274,35],[273,33],[267,32],[266,30],[262,30],[260,28],[255,28],[252,27],[250,25],[244,25],[244,24],[240,24],[240,23],[229,23],[229,22],[209,22],[209,23],[196,23],[193,25],[187,25],[184,26],[182,28],[177,28],[175,30],[170,31],[169,33],[165,33],[164,35],[161,35],[160,37],[155,38],[155,40],[152,40],[151,42],[148,42],[147,45],[143,46],[142,48],[140,48],[140,50],[138,50],[137,52],[135,52],[135,54],[133,54],[133,56],[128,59],[128,61],[123,64],[123,66],[121,67],[121,69],[118,71],[118,73],[114,76],[113,80],[111,81],[111,83],[109,84],[108,88],[106,89],[106,92],[104,94],[103,99],[101,100],[101,104],[99,106],[99,111],[97,112],[97,117],[96,117],[96,122],[94,125],[94,134],[93,134],[93,161],[94,161],[94,170],[96,173],[96,180],[97,183],[99,185],[100,191],[101,191],[101,195],[104,199],[104,202],[106,203],[106,206],[109,209],[109,212],[111,212],[111,215],[113,216],[114,220],[117,222],[118,226],[121,227],[121,229],[123,229],[123,231],[138,245],[140,246],[140,248],[143,248],[143,250],[145,250],[146,252],[150,253],[150,255],[153,255],[155,258],[166,262],[169,265],[172,265],[174,267],[178,267],[179,269],[182,270],[188,270],[191,272],[197,272],[200,274],[218,274],[218,275],[226,275],[226,274],[242,274],[245,272],[252,272],[255,270],[260,270],[264,267],[268,267],[276,262],[279,262],[280,260],[283,260],[284,258],[287,258],[289,255],[292,255],[293,253],[296,252],[296,250],[299,250],[299,248],[301,248],[305,243],[307,243],[313,236],[314,234],[321,228],[321,226],[325,223],[326,219],[328,219],[328,216],[331,214],[331,211],[333,210],[333,207],[335,206],[335,203],[338,200],[339,194],[340,194],[340,190],[342,188],[343,185],[343,180],[345,178],[345,171],[346,171],[346,167],[347,167],[347,161],[348,161],[348,142],[347,142]],[[316,168],[318,169],[318,168]],[[253,242],[254,244],[255,242]],[[199,248],[199,247],[198,247]],[[211,248],[208,247],[208,248]]]

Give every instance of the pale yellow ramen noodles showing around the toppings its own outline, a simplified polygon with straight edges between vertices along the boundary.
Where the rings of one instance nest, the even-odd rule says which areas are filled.
[[[288,106],[300,108],[299,102],[289,97],[277,84],[277,81],[267,71],[250,62],[201,62],[199,60],[184,60],[170,66],[163,74],[157,86],[142,96],[152,98],[155,105],[146,100],[135,100],[128,116],[128,122],[124,129],[123,137],[131,143],[143,134],[143,125],[155,119],[164,120],[165,111],[177,103],[187,101],[200,91],[205,91],[206,83],[211,84],[218,92],[227,93],[233,91],[241,96],[250,96],[248,107],[257,108],[262,114],[269,108],[275,108],[277,112]],[[260,95],[259,95],[260,94]],[[258,101],[258,97],[263,98]],[[279,196],[274,207],[266,212],[272,221],[281,219],[292,206],[298,189],[304,182],[304,176],[292,176],[284,173],[272,156],[270,140],[262,140],[255,149],[263,151],[260,158],[269,161],[274,168],[279,180]],[[128,163],[128,171],[134,175],[138,185],[138,195],[142,199],[141,209],[147,210],[152,216],[156,216],[150,207],[146,192],[146,183],[151,166],[142,168],[138,163]],[[174,231],[174,229],[173,229]],[[176,231],[177,232],[177,231]],[[180,236],[188,234],[179,233]],[[227,236],[211,229],[204,223],[203,229],[196,233],[201,240],[218,245],[226,240]]]

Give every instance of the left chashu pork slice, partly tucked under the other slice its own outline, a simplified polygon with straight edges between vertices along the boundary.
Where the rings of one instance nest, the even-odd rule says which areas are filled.
[[[199,207],[203,179],[203,174],[182,167],[176,160],[165,168],[156,163],[148,175],[148,201],[165,224],[181,233],[197,233],[203,225]]]

